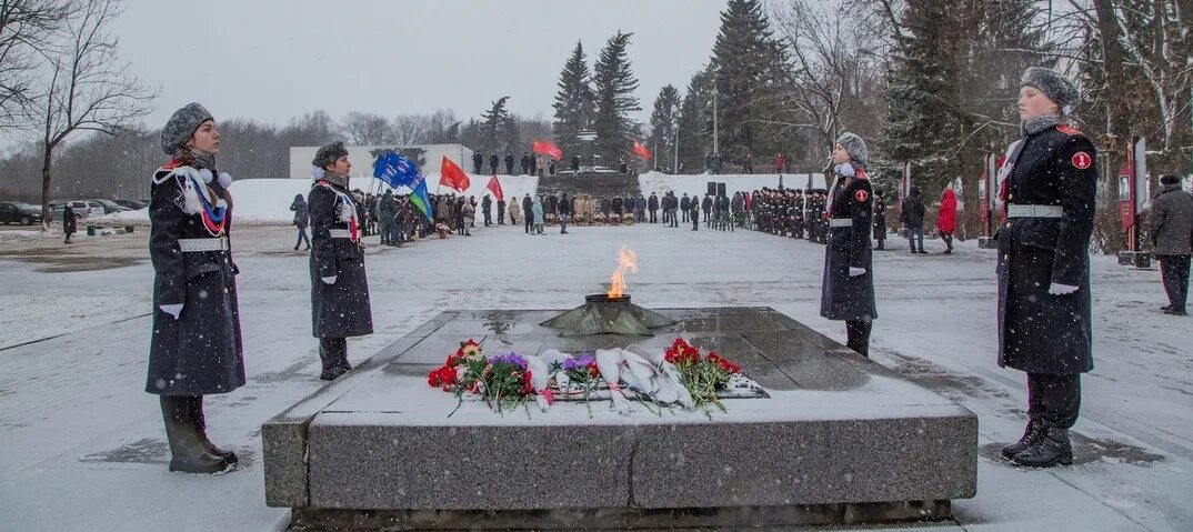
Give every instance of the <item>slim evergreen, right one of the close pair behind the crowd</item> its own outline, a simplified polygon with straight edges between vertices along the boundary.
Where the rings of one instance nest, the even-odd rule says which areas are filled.
[[[631,118],[633,111],[642,111],[638,98],[638,80],[633,76],[628,56],[630,37],[623,33],[610,37],[593,67],[595,93],[596,155],[599,163],[617,167],[623,159],[632,154],[633,137],[638,134],[638,124]]]

